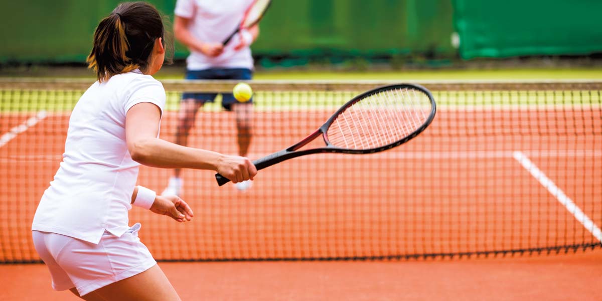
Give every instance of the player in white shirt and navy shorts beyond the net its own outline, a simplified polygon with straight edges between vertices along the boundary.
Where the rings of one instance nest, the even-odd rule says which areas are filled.
[[[173,32],[176,39],[190,49],[186,60],[186,79],[251,79],[253,57],[249,46],[259,34],[259,26],[236,34],[222,45],[243,20],[253,0],[199,1],[178,0],[175,8]],[[206,102],[213,102],[214,93],[184,93],[180,104],[176,143],[188,144],[188,133],[194,125],[196,113]],[[222,94],[222,107],[236,116],[238,155],[246,157],[252,138],[253,100],[238,102],[232,93]],[[252,182],[235,184],[246,190]],[[175,169],[163,195],[181,195],[181,170]]]

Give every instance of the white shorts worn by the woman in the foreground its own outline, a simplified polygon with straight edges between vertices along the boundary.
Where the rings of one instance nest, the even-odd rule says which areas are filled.
[[[121,237],[109,232],[98,244],[77,238],[33,231],[34,247],[45,262],[57,291],[77,288],[80,296],[130,278],[157,264],[138,238],[140,223]]]

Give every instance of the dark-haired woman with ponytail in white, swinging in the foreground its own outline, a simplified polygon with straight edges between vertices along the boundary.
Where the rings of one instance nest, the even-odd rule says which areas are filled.
[[[98,81],[73,109],[63,161],[32,226],[55,290],[84,300],[179,300],[138,239],[140,224],[128,226],[128,210],[178,222],[193,211],[177,196],[135,186],[138,166],[216,170],[234,182],[255,176],[247,158],[158,138],[166,95],[152,75],[164,57],[163,22],[149,4],[120,4],[96,28],[88,63]]]

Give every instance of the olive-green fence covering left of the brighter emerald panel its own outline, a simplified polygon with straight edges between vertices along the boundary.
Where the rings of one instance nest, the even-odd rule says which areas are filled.
[[[227,0],[224,0],[227,1]],[[99,20],[122,1],[2,1],[0,62],[81,62]],[[175,0],[149,1],[173,20]],[[455,55],[446,0],[274,0],[253,52],[262,57]],[[176,58],[187,51],[176,47]]]

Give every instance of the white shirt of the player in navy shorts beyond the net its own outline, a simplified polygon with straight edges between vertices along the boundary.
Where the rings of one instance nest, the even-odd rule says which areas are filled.
[[[190,19],[188,31],[202,42],[222,43],[238,28],[244,12],[253,0],[178,0],[175,14]],[[214,67],[253,69],[253,57],[249,46],[234,50],[240,42],[235,34],[218,57],[207,57],[201,52],[191,51],[186,60],[189,70]]]

